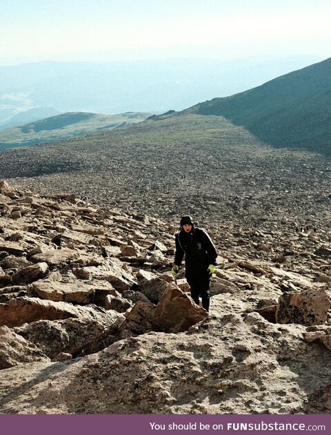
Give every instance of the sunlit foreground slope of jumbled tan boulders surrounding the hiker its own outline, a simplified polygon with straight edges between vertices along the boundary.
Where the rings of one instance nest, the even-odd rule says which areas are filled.
[[[220,219],[208,316],[172,282],[177,220],[1,182],[0,412],[330,413],[323,204],[289,234]]]

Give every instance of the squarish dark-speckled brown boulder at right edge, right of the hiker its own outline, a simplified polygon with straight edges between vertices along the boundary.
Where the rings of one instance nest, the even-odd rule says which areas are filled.
[[[330,297],[323,289],[300,293],[285,291],[279,298],[277,323],[299,323],[305,326],[323,325],[328,316]]]

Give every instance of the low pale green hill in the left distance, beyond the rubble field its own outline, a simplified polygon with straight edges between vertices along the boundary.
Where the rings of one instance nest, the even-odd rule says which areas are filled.
[[[120,115],[85,112],[63,113],[0,131],[0,149],[52,142],[84,135],[92,131],[128,126],[143,121],[149,115],[150,113],[132,112]]]

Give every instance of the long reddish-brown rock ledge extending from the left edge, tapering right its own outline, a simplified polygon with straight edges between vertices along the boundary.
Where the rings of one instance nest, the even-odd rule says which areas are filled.
[[[111,325],[121,316],[116,311],[94,309],[92,307],[74,307],[68,302],[53,302],[39,298],[23,296],[0,304],[0,326],[18,327],[37,320],[59,320],[65,318],[87,317]]]

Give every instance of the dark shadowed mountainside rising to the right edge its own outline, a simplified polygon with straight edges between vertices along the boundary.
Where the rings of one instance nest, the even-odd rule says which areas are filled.
[[[331,154],[331,58],[185,110],[225,117],[263,142]]]

